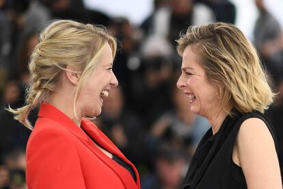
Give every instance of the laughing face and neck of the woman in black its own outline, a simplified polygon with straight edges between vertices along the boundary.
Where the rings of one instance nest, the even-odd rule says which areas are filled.
[[[185,95],[194,95],[196,100],[190,101],[191,112],[208,119],[213,127],[213,134],[217,133],[226,114],[221,110],[221,103],[217,98],[217,87],[208,81],[206,73],[197,59],[194,47],[189,45],[183,53],[182,74],[177,86]]]

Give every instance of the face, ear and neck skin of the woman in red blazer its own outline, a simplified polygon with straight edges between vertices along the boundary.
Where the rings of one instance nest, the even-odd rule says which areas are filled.
[[[100,93],[102,90],[109,91],[112,87],[118,86],[118,80],[112,71],[112,66],[113,56],[111,48],[107,44],[100,55],[98,65],[86,79],[79,93],[76,104],[77,116],[73,111],[74,90],[81,75],[76,73],[75,68],[71,66],[67,66],[67,71],[64,71],[61,77],[59,90],[51,95],[48,102],[72,118],[78,126],[80,126],[83,116],[98,116],[103,106]]]

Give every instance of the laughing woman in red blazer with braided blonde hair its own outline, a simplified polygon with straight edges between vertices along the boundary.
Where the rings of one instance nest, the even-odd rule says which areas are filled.
[[[106,29],[55,21],[31,55],[27,105],[15,118],[33,129],[27,143],[27,186],[35,188],[140,188],[133,164],[92,121],[118,85],[116,41]],[[34,128],[27,116],[40,105]]]

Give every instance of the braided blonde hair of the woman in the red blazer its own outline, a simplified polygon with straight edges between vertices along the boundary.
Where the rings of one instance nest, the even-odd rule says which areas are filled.
[[[33,129],[28,120],[32,108],[46,101],[52,92],[59,88],[59,78],[68,65],[81,74],[75,88],[74,111],[77,97],[85,80],[98,64],[101,51],[106,44],[116,55],[116,40],[102,26],[78,23],[75,21],[54,21],[40,34],[40,42],[33,49],[29,62],[31,80],[27,88],[26,104],[22,108],[8,111],[25,127]]]

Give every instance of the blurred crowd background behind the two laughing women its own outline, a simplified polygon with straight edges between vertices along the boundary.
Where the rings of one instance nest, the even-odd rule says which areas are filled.
[[[0,0],[0,188],[26,188],[30,131],[4,109],[23,105],[29,55],[54,19],[105,25],[120,47],[113,66],[119,87],[95,123],[137,166],[142,188],[179,188],[208,121],[189,111],[176,88],[176,38],[189,25],[234,23],[252,40],[278,92],[266,115],[283,163],[282,0]],[[38,110],[31,112],[36,121]]]

